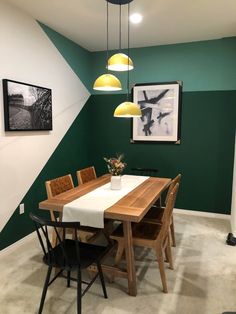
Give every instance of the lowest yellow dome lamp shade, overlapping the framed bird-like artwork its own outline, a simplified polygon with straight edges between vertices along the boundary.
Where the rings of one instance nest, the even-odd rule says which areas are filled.
[[[142,116],[139,105],[125,101],[116,107],[114,111],[114,117],[117,118],[138,118]]]

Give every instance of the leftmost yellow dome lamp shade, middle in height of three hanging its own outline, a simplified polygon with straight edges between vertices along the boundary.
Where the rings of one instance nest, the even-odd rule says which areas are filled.
[[[121,90],[121,82],[115,75],[103,74],[100,75],[94,82],[93,89],[100,91],[118,91]]]

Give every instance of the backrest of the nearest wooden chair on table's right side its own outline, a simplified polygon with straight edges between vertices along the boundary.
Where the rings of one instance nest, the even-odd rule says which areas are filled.
[[[179,189],[179,183],[176,183],[175,186],[172,188],[171,192],[168,195],[168,199],[166,201],[166,207],[163,213],[162,217],[162,224],[161,224],[161,230],[160,230],[160,238],[162,240],[165,240],[166,236],[169,233],[169,228],[171,225],[171,217],[173,213],[173,209],[175,206],[175,200],[177,197]]]

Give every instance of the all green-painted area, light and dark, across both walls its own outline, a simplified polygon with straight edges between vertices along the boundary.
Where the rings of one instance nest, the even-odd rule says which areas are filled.
[[[40,24],[56,48],[92,91],[104,72],[105,53],[89,53]],[[131,84],[183,81],[181,144],[131,144],[131,121],[113,118],[123,94],[93,95],[58,145],[0,235],[0,249],[29,234],[30,211],[46,198],[44,182],[95,165],[106,171],[104,156],[124,153],[133,166],[156,167],[159,175],[183,174],[176,207],[230,213],[236,121],[236,37],[206,42],[131,49]],[[118,74],[126,86],[126,74]],[[94,92],[94,91],[93,91]],[[124,93],[125,90],[122,91]],[[75,183],[77,184],[76,180]]]

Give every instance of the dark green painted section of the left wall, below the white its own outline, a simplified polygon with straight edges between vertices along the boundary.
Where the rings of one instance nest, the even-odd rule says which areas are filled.
[[[32,211],[35,213],[38,212],[40,215],[44,214],[42,210],[38,210],[38,204],[47,198],[45,181],[71,173],[74,184],[78,184],[76,171],[86,167],[90,159],[88,153],[90,117],[88,116],[87,108],[86,105],[83,107],[49,161],[22,199],[21,203],[25,204],[25,214],[19,215],[19,209],[17,208],[7,225],[3,228],[0,234],[0,250],[34,230],[32,221],[29,219],[29,213]],[[48,212],[45,211],[45,215],[48,215]]]

